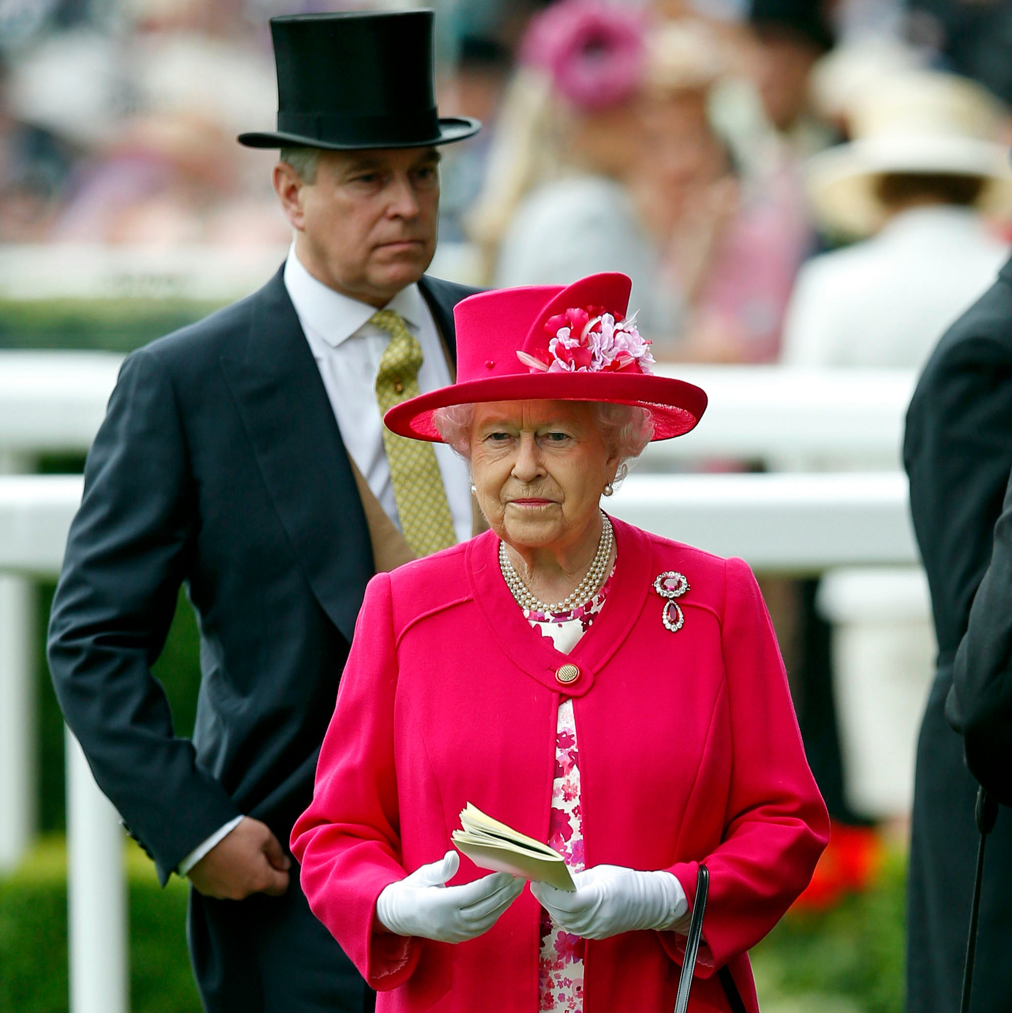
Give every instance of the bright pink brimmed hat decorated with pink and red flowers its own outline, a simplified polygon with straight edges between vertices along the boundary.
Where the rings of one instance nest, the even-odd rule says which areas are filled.
[[[688,433],[706,394],[653,376],[650,342],[626,319],[632,282],[591,275],[572,285],[482,292],[459,302],[457,382],[394,405],[384,416],[402,437],[441,442],[433,412],[487,401],[605,401],[647,408],[653,439]]]

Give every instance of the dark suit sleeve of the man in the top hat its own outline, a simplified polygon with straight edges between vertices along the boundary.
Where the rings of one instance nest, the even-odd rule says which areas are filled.
[[[84,477],[50,619],[53,686],[98,786],[164,884],[239,813],[175,737],[151,674],[197,521],[175,397],[149,349],[124,364]]]

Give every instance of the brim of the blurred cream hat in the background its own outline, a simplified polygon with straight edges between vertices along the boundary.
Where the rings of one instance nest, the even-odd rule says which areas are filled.
[[[805,183],[823,225],[868,236],[884,224],[887,210],[876,193],[886,173],[939,173],[984,180],[977,206],[1001,215],[1012,210],[1012,169],[1007,150],[988,141],[933,137],[868,138],[811,158]]]

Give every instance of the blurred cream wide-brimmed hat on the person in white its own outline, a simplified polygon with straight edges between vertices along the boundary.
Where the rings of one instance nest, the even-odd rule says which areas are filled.
[[[911,72],[863,93],[851,124],[854,140],[810,159],[808,196],[823,224],[867,236],[884,224],[887,210],[876,194],[887,173],[946,174],[985,180],[978,207],[1012,210],[1008,149],[995,138],[1004,108],[964,78]]]

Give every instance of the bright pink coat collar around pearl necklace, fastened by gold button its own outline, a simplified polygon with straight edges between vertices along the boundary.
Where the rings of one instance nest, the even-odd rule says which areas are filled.
[[[580,697],[590,692],[597,674],[622,645],[643,611],[655,575],[651,573],[653,548],[649,538],[632,525],[611,520],[617,551],[615,581],[594,625],[568,654],[557,651],[549,639],[531,628],[510,594],[499,570],[498,538],[488,531],[467,543],[468,582],[492,637],[527,675],[565,696]],[[555,678],[563,665],[579,669],[575,682],[562,685]]]

